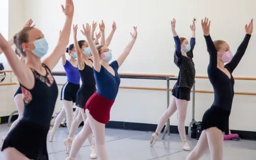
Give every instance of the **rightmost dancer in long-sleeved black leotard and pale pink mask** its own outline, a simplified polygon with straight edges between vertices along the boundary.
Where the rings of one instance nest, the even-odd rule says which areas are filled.
[[[226,42],[212,41],[208,18],[202,20],[202,28],[207,50],[210,54],[208,76],[214,89],[214,102],[203,115],[201,136],[187,160],[198,160],[208,148],[212,160],[223,160],[223,133],[228,134],[228,118],[234,96],[232,72],[246,51],[253,32],[253,20],[245,26],[245,38],[234,57],[232,57]],[[227,64],[224,65],[224,63]]]

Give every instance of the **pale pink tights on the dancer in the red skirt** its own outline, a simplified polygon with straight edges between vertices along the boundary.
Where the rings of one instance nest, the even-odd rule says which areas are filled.
[[[96,154],[98,156],[98,160],[108,160],[107,151],[105,147],[105,124],[97,122],[92,117],[88,109],[86,109],[86,114],[84,113],[84,110],[81,109],[81,113],[85,123],[83,129],[76,135],[73,141],[70,157],[73,159],[76,158],[77,153],[83,145],[86,138],[89,137],[90,139],[90,136],[92,137],[93,133],[95,136],[95,149]]]

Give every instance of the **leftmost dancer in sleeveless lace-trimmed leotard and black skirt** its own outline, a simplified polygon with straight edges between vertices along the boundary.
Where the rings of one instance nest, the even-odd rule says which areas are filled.
[[[0,48],[22,86],[25,104],[23,118],[3,142],[5,160],[49,159],[46,138],[58,96],[51,71],[64,54],[69,40],[74,12],[72,0],[66,0],[62,8],[66,15],[63,31],[55,50],[43,63],[41,57],[47,53],[48,44],[39,29],[25,27],[14,37],[19,52],[26,56],[26,64],[17,58],[0,34]]]

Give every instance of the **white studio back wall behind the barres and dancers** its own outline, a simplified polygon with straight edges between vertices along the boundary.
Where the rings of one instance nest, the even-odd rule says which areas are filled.
[[[59,30],[64,24],[64,14],[60,4],[64,0],[23,0],[24,19],[32,18],[49,43],[50,51],[57,44]],[[177,32],[180,36],[190,38],[189,28],[192,18],[197,18],[196,46],[194,62],[196,75],[207,75],[209,56],[202,36],[200,19],[204,16],[212,20],[211,35],[213,39],[223,39],[235,53],[245,31],[244,25],[255,18],[255,0],[74,0],[74,23],[79,25],[93,20],[106,23],[106,33],[111,29],[112,21],[117,23],[117,30],[110,48],[114,58],[122,52],[130,40],[132,26],[138,26],[138,38],[132,52],[119,72],[129,73],[164,73],[178,74],[173,63],[174,41],[170,31],[170,20],[177,20]],[[15,19],[15,17],[13,17]],[[25,22],[25,21],[24,21]],[[72,34],[70,43],[73,42]],[[78,33],[78,39],[84,37]],[[233,73],[234,77],[256,77],[252,72],[256,54],[253,45],[255,33],[250,40],[247,52],[240,65]],[[49,52],[50,53],[50,52]],[[61,63],[56,71],[64,70]],[[59,78],[58,82],[65,79]],[[171,87],[174,82],[171,82]],[[159,80],[122,80],[122,86],[165,87],[165,81]],[[256,92],[255,81],[236,80],[235,90]],[[196,80],[197,90],[212,90],[209,80]],[[157,124],[166,107],[164,91],[120,89],[116,103],[111,111],[111,120]],[[201,120],[204,111],[211,106],[213,94],[196,94],[196,120]],[[61,103],[57,103],[58,110]],[[236,95],[230,129],[256,131],[255,113],[256,96]],[[191,103],[186,124],[191,120]],[[177,125],[177,114],[171,118],[172,125]]]

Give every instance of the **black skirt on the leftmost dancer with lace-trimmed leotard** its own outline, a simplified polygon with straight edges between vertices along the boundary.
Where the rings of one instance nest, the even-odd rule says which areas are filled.
[[[49,127],[38,126],[26,120],[13,128],[3,141],[1,151],[14,147],[32,160],[49,160],[46,140]]]

